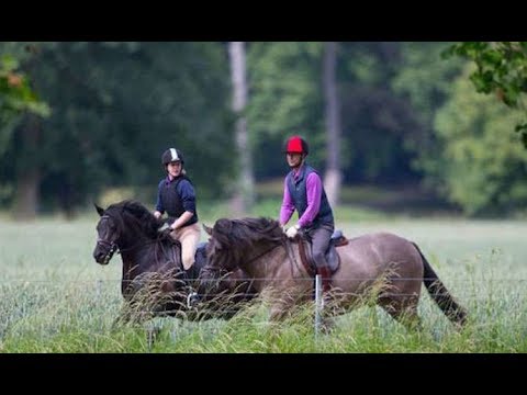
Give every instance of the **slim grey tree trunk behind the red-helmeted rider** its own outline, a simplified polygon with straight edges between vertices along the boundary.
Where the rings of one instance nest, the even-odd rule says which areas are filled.
[[[325,99],[327,165],[324,176],[324,189],[329,204],[336,205],[340,199],[340,103],[337,94],[336,79],[337,45],[324,44],[323,84]]]

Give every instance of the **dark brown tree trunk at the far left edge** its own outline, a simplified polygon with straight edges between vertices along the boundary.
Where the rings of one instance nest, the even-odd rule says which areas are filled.
[[[18,158],[16,183],[12,215],[16,219],[36,217],[40,200],[40,157],[37,155],[41,122],[36,115],[27,115],[20,128],[22,149]]]

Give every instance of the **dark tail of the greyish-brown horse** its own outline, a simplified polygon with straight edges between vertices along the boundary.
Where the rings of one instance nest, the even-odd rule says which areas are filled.
[[[428,293],[431,298],[441,308],[445,315],[452,321],[462,326],[467,321],[467,311],[461,307],[448,292],[445,284],[439,280],[430,263],[426,260],[425,256],[421,251],[419,247],[415,242],[412,242],[421,255],[423,260],[423,282],[425,283]]]

